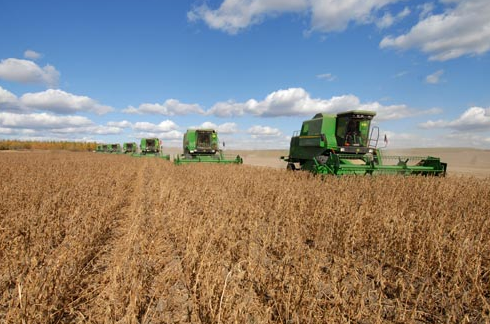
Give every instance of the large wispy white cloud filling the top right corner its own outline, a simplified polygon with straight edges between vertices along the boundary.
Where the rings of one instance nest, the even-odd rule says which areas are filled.
[[[422,20],[400,36],[387,36],[381,48],[418,48],[430,60],[446,61],[490,50],[490,4],[488,0],[444,0],[443,13],[423,7]]]

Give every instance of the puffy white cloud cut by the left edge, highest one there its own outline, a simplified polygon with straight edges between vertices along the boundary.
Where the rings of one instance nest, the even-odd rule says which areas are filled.
[[[38,66],[29,60],[8,58],[0,61],[0,79],[20,83],[45,84],[56,87],[60,73],[52,65]]]

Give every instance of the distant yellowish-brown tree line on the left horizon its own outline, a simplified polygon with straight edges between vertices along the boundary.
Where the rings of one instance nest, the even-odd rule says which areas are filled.
[[[0,140],[0,150],[94,151],[95,142]]]

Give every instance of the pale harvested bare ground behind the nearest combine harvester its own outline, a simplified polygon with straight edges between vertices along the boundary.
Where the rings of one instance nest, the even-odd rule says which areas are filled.
[[[248,165],[286,169],[286,163],[280,159],[287,150],[227,151],[228,154],[240,154]],[[490,177],[490,150],[472,148],[420,148],[384,150],[384,155],[393,156],[434,156],[448,164],[449,176]]]

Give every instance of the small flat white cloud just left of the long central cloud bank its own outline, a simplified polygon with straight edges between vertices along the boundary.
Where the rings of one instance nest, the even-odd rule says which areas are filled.
[[[139,107],[129,106],[123,109],[127,114],[155,114],[155,115],[187,115],[187,114],[203,114],[202,107],[198,104],[186,104],[176,99],[168,99],[163,104],[159,103],[143,103]]]

